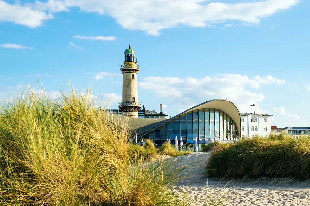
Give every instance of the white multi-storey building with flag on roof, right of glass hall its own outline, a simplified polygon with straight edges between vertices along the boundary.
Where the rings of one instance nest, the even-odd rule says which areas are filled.
[[[255,135],[267,137],[271,133],[270,114],[240,113],[241,138],[252,138]]]

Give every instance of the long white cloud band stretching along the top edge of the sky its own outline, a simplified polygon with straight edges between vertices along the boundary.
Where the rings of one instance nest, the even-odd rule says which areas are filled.
[[[191,27],[206,27],[223,23],[229,25],[227,21],[259,24],[262,18],[273,15],[279,10],[289,9],[299,3],[299,0],[256,0],[243,3],[238,3],[236,0],[230,3],[207,0],[49,0],[47,2],[36,1],[24,6],[8,4],[2,0],[0,2],[2,4],[0,8],[3,5],[6,8],[0,9],[0,21],[12,21],[36,27],[41,25],[43,20],[53,18],[50,13],[43,11],[56,13],[69,11],[71,7],[79,7],[84,12],[111,16],[123,28],[158,35],[159,31],[164,28],[179,25]],[[11,8],[14,9],[13,12]],[[24,12],[29,15],[13,16],[12,13],[15,14],[18,10],[20,10],[19,14]]]

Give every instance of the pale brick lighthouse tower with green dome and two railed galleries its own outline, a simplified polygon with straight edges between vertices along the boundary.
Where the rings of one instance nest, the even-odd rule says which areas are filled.
[[[135,51],[131,49],[130,43],[124,52],[123,62],[120,65],[123,73],[123,99],[118,107],[123,116],[138,118],[139,109],[142,107],[141,102],[138,102],[137,74],[139,64],[137,64],[138,58],[135,56]]]

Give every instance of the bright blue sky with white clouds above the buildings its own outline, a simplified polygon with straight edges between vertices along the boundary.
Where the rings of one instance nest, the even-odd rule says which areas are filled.
[[[170,118],[227,98],[279,128],[310,127],[309,10],[308,0],[0,0],[0,99],[38,77],[52,99],[69,81],[117,108],[130,41],[148,110],[162,104]]]

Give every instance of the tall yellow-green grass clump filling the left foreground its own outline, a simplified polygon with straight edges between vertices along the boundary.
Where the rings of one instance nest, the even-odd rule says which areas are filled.
[[[178,171],[133,158],[126,127],[81,93],[72,88],[53,101],[29,86],[1,105],[0,204],[179,204],[165,189]]]

